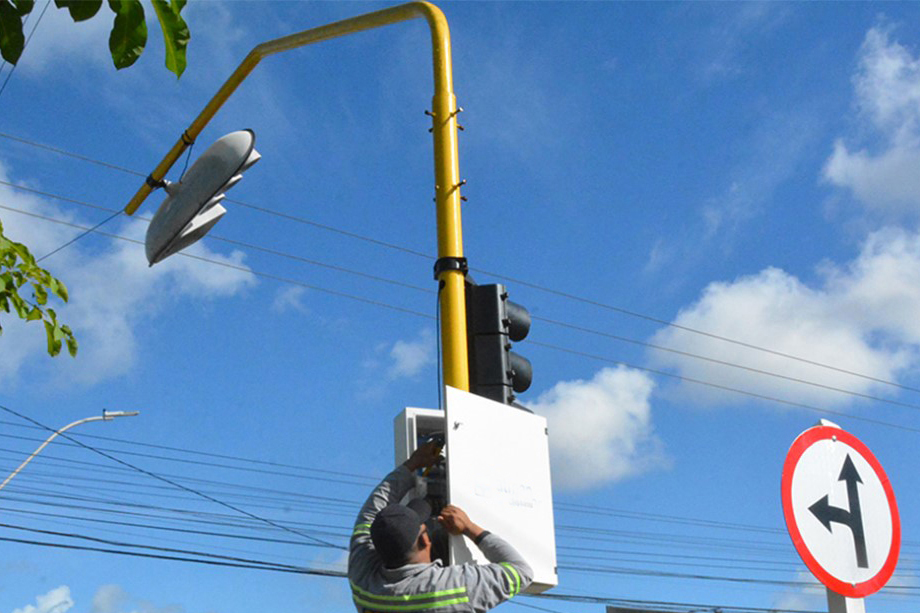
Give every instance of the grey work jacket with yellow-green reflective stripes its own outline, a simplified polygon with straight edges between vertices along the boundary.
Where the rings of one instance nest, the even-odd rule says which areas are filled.
[[[371,523],[412,489],[399,466],[378,485],[358,514],[348,555],[348,580],[358,613],[481,613],[530,585],[533,571],[502,538],[487,534],[479,549],[491,564],[406,564],[386,568],[371,542]]]

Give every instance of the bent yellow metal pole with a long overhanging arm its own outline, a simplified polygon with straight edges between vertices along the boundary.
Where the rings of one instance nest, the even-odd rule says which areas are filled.
[[[463,233],[460,217],[460,162],[457,152],[458,109],[457,98],[453,93],[450,30],[444,13],[433,4],[409,2],[256,45],[182,134],[182,137],[173,145],[166,157],[150,173],[147,182],[137,190],[125,207],[125,213],[134,214],[150,192],[163,180],[179,156],[195,142],[224,102],[263,58],[354,32],[420,17],[428,22],[431,30],[434,64],[434,98],[431,115],[438,227],[439,265],[436,271],[438,282],[442,284],[440,292],[441,322],[443,324],[441,329],[442,368],[445,384],[468,391],[469,370],[463,270],[465,260],[463,259]]]

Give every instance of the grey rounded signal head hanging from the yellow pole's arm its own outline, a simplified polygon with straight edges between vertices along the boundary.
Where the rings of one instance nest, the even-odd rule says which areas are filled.
[[[227,212],[224,192],[262,157],[252,130],[231,132],[208,147],[177,183],[164,182],[166,200],[157,209],[144,246],[151,266],[200,240]]]

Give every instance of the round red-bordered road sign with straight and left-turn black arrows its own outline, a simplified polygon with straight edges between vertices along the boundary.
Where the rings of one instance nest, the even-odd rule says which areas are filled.
[[[796,550],[828,589],[863,598],[891,578],[901,548],[894,491],[855,436],[834,425],[800,434],[783,466],[782,499]]]

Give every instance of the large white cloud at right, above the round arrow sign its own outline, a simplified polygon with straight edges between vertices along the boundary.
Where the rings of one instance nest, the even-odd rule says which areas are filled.
[[[681,310],[674,323],[823,364],[893,381],[915,365],[920,350],[920,235],[899,229],[871,234],[845,266],[826,264],[811,287],[777,268],[733,282],[711,283]],[[653,342],[859,393],[884,393],[865,378],[805,364],[673,327]],[[684,377],[789,398],[838,406],[847,396],[813,386],[737,370],[687,356],[655,352],[653,360]],[[687,384],[682,397],[727,403],[737,397]]]

